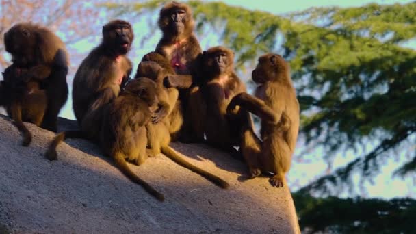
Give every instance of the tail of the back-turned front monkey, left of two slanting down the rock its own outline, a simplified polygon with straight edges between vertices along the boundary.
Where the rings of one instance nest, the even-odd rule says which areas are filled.
[[[165,200],[164,194],[157,192],[153,187],[151,187],[151,185],[148,185],[146,181],[140,179],[140,177],[138,177],[136,174],[134,174],[133,171],[131,171],[129,165],[127,165],[125,157],[123,157],[121,153],[114,153],[113,159],[116,165],[118,166],[118,169],[121,170],[121,172],[123,172],[127,177],[129,177],[131,181],[133,181],[134,183],[138,183],[139,185],[142,185],[144,190],[146,190],[149,194],[157,198],[157,200]]]

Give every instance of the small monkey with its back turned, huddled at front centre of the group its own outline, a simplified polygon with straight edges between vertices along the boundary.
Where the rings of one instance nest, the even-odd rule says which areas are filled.
[[[142,165],[146,155],[146,128],[157,103],[156,83],[151,79],[140,77],[129,81],[125,89],[103,106],[103,121],[99,128],[100,135],[94,140],[106,155],[114,160],[118,169],[131,181],[144,187],[144,190],[164,201],[164,195],[134,174],[126,161]],[[66,138],[88,138],[83,131],[66,131],[58,134],[49,145],[46,157],[57,159],[56,147]]]

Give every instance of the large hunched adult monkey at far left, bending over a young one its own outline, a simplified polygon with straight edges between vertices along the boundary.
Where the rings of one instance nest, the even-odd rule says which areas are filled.
[[[68,54],[64,42],[47,27],[18,23],[4,34],[5,51],[16,68],[29,68],[47,95],[40,127],[57,131],[57,116],[68,99]],[[40,101],[42,102],[42,101]]]

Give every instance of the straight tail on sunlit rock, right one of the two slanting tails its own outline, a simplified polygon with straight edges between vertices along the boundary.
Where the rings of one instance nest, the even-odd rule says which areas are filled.
[[[162,146],[161,147],[161,153],[166,155],[168,158],[172,159],[172,161],[176,162],[177,164],[179,164],[179,165],[181,165],[185,168],[188,168],[189,170],[192,170],[193,172],[198,173],[201,176],[207,178],[209,181],[211,181],[212,183],[215,183],[219,187],[222,187],[224,189],[230,187],[229,183],[226,183],[226,181],[224,181],[220,177],[217,177],[216,175],[213,175],[213,174],[211,174],[211,173],[209,173],[209,172],[207,172],[207,171],[205,171],[201,168],[198,168],[197,166],[195,166],[193,164],[190,164],[190,162],[185,161],[185,159],[180,157],[169,146]]]

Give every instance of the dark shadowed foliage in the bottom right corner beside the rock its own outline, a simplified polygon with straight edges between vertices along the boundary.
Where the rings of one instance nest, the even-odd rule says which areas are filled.
[[[293,194],[302,233],[414,233],[416,200],[337,197],[314,198]]]

